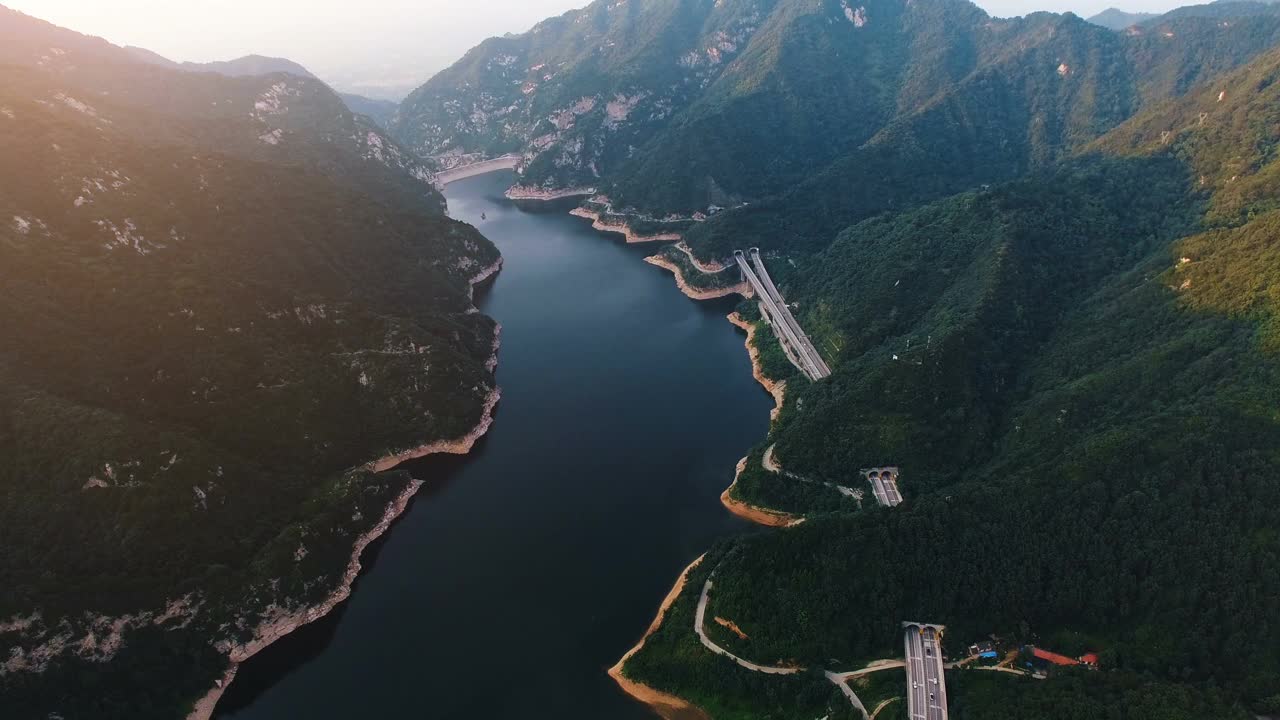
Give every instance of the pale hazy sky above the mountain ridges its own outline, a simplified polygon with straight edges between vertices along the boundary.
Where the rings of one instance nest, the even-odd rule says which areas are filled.
[[[977,0],[998,17],[1196,0]],[[486,37],[524,32],[589,0],[0,0],[15,10],[172,60],[296,60],[339,90],[396,99]]]

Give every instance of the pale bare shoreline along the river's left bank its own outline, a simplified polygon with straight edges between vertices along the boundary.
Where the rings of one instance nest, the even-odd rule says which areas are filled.
[[[500,269],[502,258],[499,256],[495,263],[484,268],[480,273],[472,277],[468,283],[468,293],[474,292],[476,284],[489,279]],[[490,373],[498,365],[498,350],[500,346],[502,325],[494,324],[493,350],[489,359],[485,360],[485,368],[488,368]],[[415,460],[428,455],[466,455],[471,452],[475,443],[489,432],[489,428],[493,425],[494,409],[498,406],[499,400],[502,400],[502,388],[494,383],[493,389],[490,389],[489,395],[485,397],[479,423],[476,423],[476,425],[462,437],[454,439],[439,439],[416,448],[387,455],[378,460],[366,462],[362,468],[372,473],[381,473],[390,470],[407,460]],[[422,480],[419,479],[410,480],[408,486],[406,486],[406,488],[396,496],[390,503],[388,503],[387,509],[383,511],[381,520],[356,538],[342,582],[338,583],[338,587],[334,588],[328,598],[319,605],[303,606],[288,615],[275,618],[273,620],[265,620],[253,628],[252,639],[242,644],[225,647],[225,653],[230,666],[225,673],[223,673],[221,678],[214,680],[214,687],[210,688],[207,693],[196,700],[186,720],[211,720],[214,710],[218,707],[218,701],[221,700],[227,688],[230,687],[232,680],[236,679],[236,673],[242,662],[266,650],[269,646],[298,628],[324,618],[332,612],[334,607],[342,605],[348,597],[351,597],[352,585],[355,584],[356,578],[360,577],[360,570],[362,568],[360,559],[364,555],[365,548],[378,538],[383,537],[387,530],[390,529],[392,524],[394,524],[396,520],[404,514],[404,510],[408,509],[410,501],[413,500],[413,496],[417,495],[417,491],[421,489],[422,484]],[[215,647],[218,647],[218,644],[219,643],[215,643]],[[223,647],[219,647],[219,650],[223,650]]]

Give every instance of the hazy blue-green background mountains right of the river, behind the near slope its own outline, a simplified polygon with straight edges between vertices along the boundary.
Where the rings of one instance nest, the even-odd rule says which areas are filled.
[[[1280,37],[1275,20],[1169,22],[1172,38],[968,0],[600,1],[486,41],[392,129],[445,163],[521,152],[525,184],[599,187],[657,217],[831,182],[879,211],[895,186],[938,197],[1051,164]],[[948,167],[900,174],[934,158]]]

